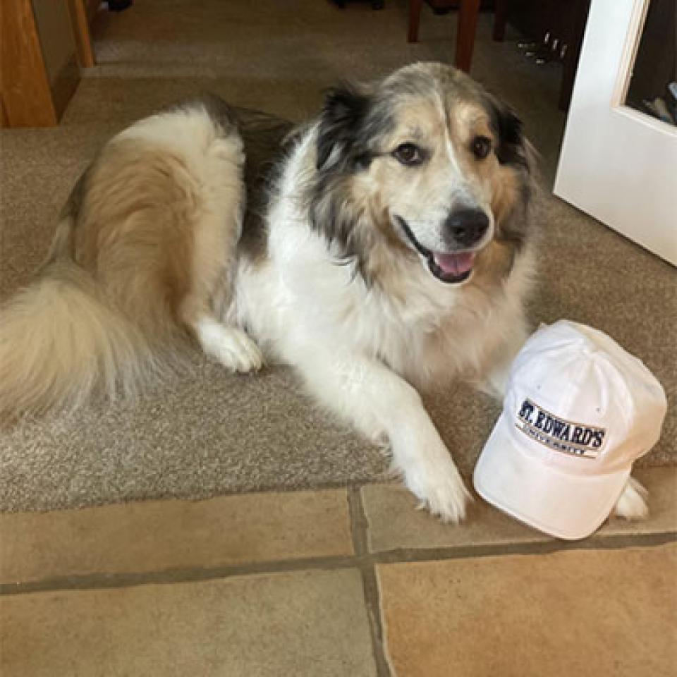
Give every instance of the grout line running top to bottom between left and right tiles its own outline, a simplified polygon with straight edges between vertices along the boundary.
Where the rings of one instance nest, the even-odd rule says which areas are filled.
[[[372,649],[378,677],[391,677],[386,658],[383,625],[381,618],[381,599],[374,563],[369,558],[368,530],[369,522],[362,503],[362,491],[359,486],[348,487],[348,511],[350,513],[350,532],[353,536],[353,548],[356,561],[362,575],[362,590],[367,606],[367,620],[372,635]]]

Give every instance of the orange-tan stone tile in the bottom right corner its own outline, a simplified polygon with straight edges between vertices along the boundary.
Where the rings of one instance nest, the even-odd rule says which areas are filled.
[[[377,567],[398,677],[672,677],[677,546]]]

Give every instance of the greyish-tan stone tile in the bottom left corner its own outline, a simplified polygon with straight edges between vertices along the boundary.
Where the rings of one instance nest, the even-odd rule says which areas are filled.
[[[355,570],[8,595],[3,677],[374,677]]]

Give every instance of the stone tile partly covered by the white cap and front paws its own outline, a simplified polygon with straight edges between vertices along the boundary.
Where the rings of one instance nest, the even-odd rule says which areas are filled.
[[[677,530],[677,468],[640,468],[636,477],[649,489],[648,520],[609,520],[598,535],[639,535]],[[368,484],[362,499],[369,523],[370,551],[398,548],[464,547],[551,540],[489,506],[479,497],[460,526],[443,524],[425,511],[416,511],[416,499],[396,484]]]

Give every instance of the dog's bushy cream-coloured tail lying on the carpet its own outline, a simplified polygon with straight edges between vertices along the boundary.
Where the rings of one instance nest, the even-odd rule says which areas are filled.
[[[134,392],[157,371],[144,333],[68,252],[68,219],[38,279],[0,308],[0,425],[73,410],[98,389]]]

